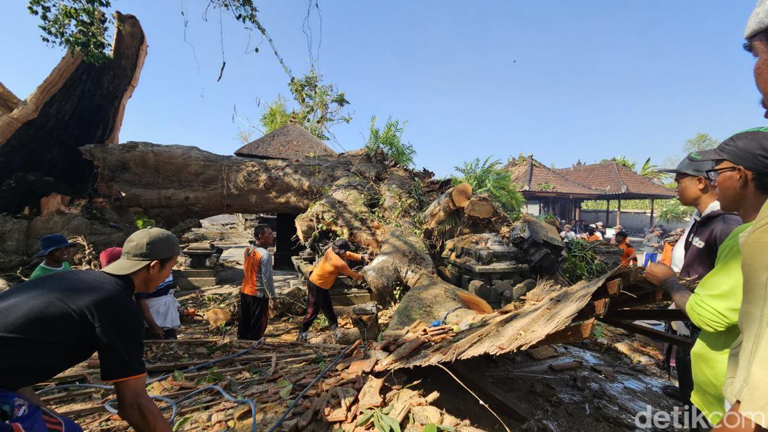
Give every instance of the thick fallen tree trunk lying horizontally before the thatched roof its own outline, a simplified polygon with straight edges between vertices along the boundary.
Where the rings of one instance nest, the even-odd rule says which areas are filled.
[[[303,213],[328,199],[326,193],[333,197],[336,189],[328,185],[353,189],[357,183],[349,177],[375,180],[387,168],[364,152],[292,162],[137,142],[89,145],[81,151],[98,167],[102,195],[170,227],[223,213]],[[330,223],[329,214],[318,222]],[[307,232],[299,225],[302,219],[297,226]]]

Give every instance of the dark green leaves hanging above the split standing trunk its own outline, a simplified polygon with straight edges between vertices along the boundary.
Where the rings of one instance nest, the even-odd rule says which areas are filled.
[[[103,8],[110,6],[110,0],[30,0],[27,9],[40,17],[46,44],[79,51],[85,61],[101,64],[109,58],[107,30],[112,19]]]

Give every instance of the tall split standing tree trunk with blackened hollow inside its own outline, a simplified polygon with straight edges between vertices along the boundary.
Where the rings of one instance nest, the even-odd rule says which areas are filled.
[[[111,59],[97,65],[65,54],[24,104],[0,116],[0,213],[36,209],[53,192],[82,196],[94,168],[78,147],[118,143],[147,41],[133,15],[116,12],[115,25]]]

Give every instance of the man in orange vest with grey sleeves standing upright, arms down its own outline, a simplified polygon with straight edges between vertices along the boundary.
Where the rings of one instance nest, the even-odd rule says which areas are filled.
[[[266,331],[270,306],[277,307],[275,283],[272,277],[272,246],[275,235],[270,226],[260,223],[253,228],[253,239],[245,249],[243,288],[240,289],[240,318],[237,338],[258,341]]]

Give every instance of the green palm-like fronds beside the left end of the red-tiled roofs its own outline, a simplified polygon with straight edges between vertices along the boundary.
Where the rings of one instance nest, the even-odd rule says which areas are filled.
[[[454,167],[462,176],[454,176],[453,184],[466,182],[472,186],[475,193],[485,193],[488,197],[502,205],[502,209],[511,215],[520,213],[525,206],[525,198],[518,192],[519,186],[512,183],[511,173],[502,167],[501,160],[485,158],[480,162],[475,158],[465,162],[461,167]]]

